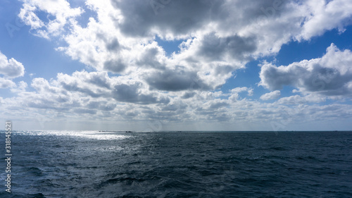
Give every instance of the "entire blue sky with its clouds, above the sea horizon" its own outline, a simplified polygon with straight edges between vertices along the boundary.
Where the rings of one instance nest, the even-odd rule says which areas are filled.
[[[13,130],[352,130],[352,1],[4,0]]]

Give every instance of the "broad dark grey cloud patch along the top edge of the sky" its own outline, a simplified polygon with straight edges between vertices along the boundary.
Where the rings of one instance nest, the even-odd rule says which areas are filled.
[[[229,25],[240,27],[263,18],[279,18],[289,4],[283,0],[251,1],[250,6],[247,1],[225,0],[111,1],[124,16],[123,22],[116,25],[132,37],[151,36],[155,28],[164,33],[186,35],[210,22],[227,30]]]

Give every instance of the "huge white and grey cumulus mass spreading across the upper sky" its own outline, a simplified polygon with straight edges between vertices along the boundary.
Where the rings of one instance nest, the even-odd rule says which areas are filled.
[[[36,35],[55,38],[61,33],[66,45],[57,49],[87,66],[138,78],[153,89],[180,92],[197,89],[189,86],[194,78],[204,89],[217,89],[234,70],[253,58],[277,53],[292,38],[310,39],[344,27],[351,19],[350,6],[343,0],[265,0],[250,5],[182,0],[158,7],[156,13],[149,1],[140,0],[85,1],[77,8],[65,0],[25,0],[19,16]],[[80,25],[76,18],[84,10],[96,16]],[[43,11],[49,21],[37,14]],[[333,20],[320,25],[326,17]],[[166,56],[156,37],[183,40],[180,52]]]

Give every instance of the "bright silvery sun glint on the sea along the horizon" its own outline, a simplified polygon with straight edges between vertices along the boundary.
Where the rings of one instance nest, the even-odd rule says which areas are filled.
[[[97,130],[27,130],[18,131],[17,133],[23,135],[58,135],[58,136],[72,136],[82,137],[94,140],[122,140],[131,135],[123,134],[120,131],[101,132]]]

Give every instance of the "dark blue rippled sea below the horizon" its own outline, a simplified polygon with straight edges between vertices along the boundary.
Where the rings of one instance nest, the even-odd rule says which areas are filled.
[[[352,132],[0,135],[0,197],[352,197]]]

